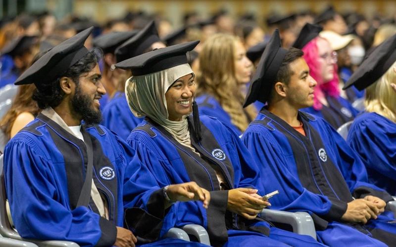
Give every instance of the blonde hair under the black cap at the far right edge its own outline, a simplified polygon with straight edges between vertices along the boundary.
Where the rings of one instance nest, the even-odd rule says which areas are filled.
[[[396,83],[396,61],[376,82],[366,88],[367,112],[375,112],[396,123],[396,95],[391,83]]]

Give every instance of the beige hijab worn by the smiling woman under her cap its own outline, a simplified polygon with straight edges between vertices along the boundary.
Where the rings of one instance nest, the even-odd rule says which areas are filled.
[[[143,76],[132,76],[125,83],[129,108],[138,117],[148,116],[165,128],[182,145],[191,147],[187,116],[182,121],[168,120],[165,93],[177,79],[194,73],[189,64]]]

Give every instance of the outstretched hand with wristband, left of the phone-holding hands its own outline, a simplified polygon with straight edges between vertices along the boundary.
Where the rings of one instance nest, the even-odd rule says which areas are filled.
[[[207,208],[210,202],[209,191],[198,186],[196,182],[169,185],[166,194],[173,202],[201,201]]]

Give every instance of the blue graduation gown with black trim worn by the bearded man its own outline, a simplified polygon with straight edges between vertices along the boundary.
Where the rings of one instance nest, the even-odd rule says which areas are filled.
[[[43,114],[5,147],[4,176],[11,215],[23,238],[73,241],[80,246],[111,246],[123,226],[122,183],[133,150],[99,125],[82,127],[94,152],[93,179],[106,199],[109,220],[99,216],[92,198],[77,206],[85,179],[83,141]]]

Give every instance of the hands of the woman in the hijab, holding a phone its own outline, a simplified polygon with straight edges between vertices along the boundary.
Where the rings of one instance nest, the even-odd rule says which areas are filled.
[[[260,200],[256,193],[257,190],[248,188],[229,190],[227,209],[247,219],[255,219],[263,208],[271,206],[269,202]]]

